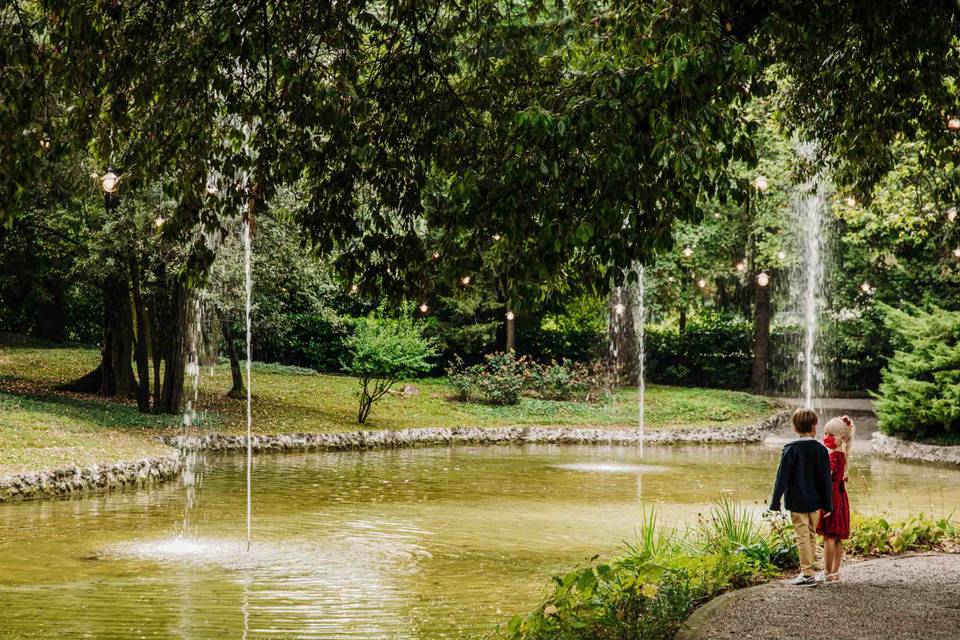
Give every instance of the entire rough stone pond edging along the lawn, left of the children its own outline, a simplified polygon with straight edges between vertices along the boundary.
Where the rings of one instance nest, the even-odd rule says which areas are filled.
[[[694,429],[658,429],[645,434],[645,444],[738,444],[760,442],[786,424],[789,411],[778,412],[757,423]],[[145,488],[177,477],[184,450],[212,452],[244,451],[246,436],[211,433],[203,436],[162,436],[164,444],[179,449],[169,456],[133,462],[67,465],[0,477],[0,503],[15,500],[69,498],[100,491]],[[402,429],[397,431],[351,431],[345,433],[293,433],[254,435],[255,453],[297,451],[365,451],[403,447],[455,444],[610,444],[637,445],[640,434],[632,429],[570,427],[455,427],[452,429]]]

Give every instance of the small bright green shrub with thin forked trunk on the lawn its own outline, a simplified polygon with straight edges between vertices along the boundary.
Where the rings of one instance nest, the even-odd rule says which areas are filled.
[[[360,424],[366,422],[373,403],[386,395],[394,383],[429,371],[429,360],[436,355],[432,343],[423,337],[421,326],[409,318],[359,318],[346,346],[350,359],[342,363],[343,368],[359,378],[361,384],[357,412]]]

